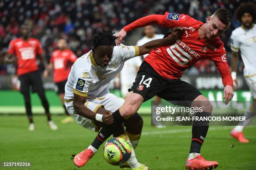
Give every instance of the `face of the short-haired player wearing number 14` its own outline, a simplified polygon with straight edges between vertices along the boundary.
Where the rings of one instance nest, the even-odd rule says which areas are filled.
[[[212,16],[207,18],[207,26],[205,27],[206,39],[213,39],[225,32],[229,25],[223,24],[218,17]]]

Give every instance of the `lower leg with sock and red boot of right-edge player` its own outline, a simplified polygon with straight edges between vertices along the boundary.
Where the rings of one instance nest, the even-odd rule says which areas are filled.
[[[246,110],[246,112],[243,115],[244,117],[246,117],[246,121],[240,122],[239,123],[240,125],[237,125],[230,133],[230,135],[233,138],[237,139],[238,142],[241,142],[241,143],[249,142],[249,140],[247,140],[244,137],[243,129],[251,122],[255,114],[256,114],[256,99],[253,99],[253,104],[249,109]]]

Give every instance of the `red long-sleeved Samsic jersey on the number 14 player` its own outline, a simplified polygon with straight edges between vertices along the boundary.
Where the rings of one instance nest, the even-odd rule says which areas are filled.
[[[217,66],[223,79],[224,86],[233,87],[233,79],[230,75],[226,60],[226,51],[220,38],[210,41],[199,38],[198,28],[203,23],[189,15],[165,13],[165,15],[149,15],[124,27],[125,31],[157,23],[165,27],[184,27],[185,30],[173,45],[156,48],[150,52],[144,60],[155,71],[167,79],[179,79],[183,71],[197,61],[210,59]]]

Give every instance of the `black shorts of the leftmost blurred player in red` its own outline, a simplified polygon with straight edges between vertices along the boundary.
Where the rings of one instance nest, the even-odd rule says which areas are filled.
[[[31,86],[32,92],[44,92],[44,86],[40,71],[33,71],[27,74],[20,75],[19,80],[21,93],[29,93]]]

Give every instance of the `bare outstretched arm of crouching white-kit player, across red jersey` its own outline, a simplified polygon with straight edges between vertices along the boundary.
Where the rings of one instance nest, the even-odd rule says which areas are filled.
[[[153,41],[149,41],[148,43],[143,44],[142,46],[138,46],[139,48],[139,56],[149,53],[151,50],[155,48],[159,48],[162,46],[168,46],[179,38],[180,34],[184,30],[183,27],[176,27],[172,29],[172,35],[166,38],[156,39]]]

